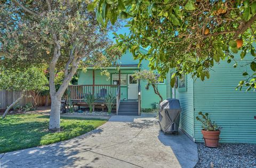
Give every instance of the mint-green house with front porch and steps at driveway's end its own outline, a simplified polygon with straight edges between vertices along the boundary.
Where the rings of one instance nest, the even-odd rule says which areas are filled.
[[[141,51],[146,53],[145,49]],[[102,75],[102,70],[87,68],[86,72],[78,71],[78,85],[70,85],[71,99],[82,105],[85,94],[94,94],[97,97],[104,97],[108,94],[116,96],[116,112],[118,115],[140,115],[141,108],[152,108],[159,102],[153,88],[145,89],[146,81],[136,81],[132,78],[135,71],[148,70],[149,62],[133,60],[132,54],[127,51],[120,60],[120,65],[106,68],[110,77]],[[166,81],[159,82],[158,90],[163,98],[166,98]],[[83,102],[83,103],[82,103]],[[103,99],[95,103],[95,107],[104,106]]]

